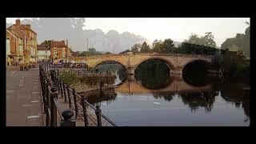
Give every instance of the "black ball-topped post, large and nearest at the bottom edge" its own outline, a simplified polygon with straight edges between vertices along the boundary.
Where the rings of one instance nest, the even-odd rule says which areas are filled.
[[[72,118],[74,112],[72,110],[65,110],[62,112],[61,126],[75,126],[75,120]]]

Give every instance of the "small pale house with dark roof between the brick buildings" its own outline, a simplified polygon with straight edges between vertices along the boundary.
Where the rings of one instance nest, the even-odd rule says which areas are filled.
[[[38,61],[50,60],[50,46],[38,45]]]

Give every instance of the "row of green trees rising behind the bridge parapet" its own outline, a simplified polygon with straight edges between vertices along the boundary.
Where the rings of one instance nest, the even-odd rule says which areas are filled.
[[[163,42],[158,39],[154,40],[152,48],[143,42],[141,44],[134,44],[130,49],[123,51],[133,53],[179,53],[179,54],[208,54],[214,55],[218,52],[216,43],[214,42],[214,35],[207,32],[204,36],[199,37],[197,34],[191,34],[188,40],[182,42],[181,45],[175,46],[174,41],[170,38],[165,39]]]

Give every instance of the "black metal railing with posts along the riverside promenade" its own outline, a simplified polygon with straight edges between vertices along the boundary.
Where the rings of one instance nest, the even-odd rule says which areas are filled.
[[[102,114],[100,106],[92,106],[84,96],[80,96],[74,88],[58,78],[58,74],[61,72],[58,66],[59,64],[50,64],[49,62],[39,66],[46,126],[58,126],[58,124],[75,126],[75,122],[79,118],[85,122],[84,126],[89,126],[91,122],[96,126],[117,126],[110,118]],[[46,76],[46,73],[49,72],[51,81]],[[62,110],[58,103],[58,94],[64,98],[64,102],[68,102],[68,110]],[[74,118],[72,118],[73,115]]]

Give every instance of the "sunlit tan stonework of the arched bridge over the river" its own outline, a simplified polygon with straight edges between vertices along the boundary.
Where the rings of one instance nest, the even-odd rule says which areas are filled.
[[[166,65],[170,68],[171,74],[182,74],[183,68],[190,62],[202,60],[208,63],[212,62],[212,56],[202,56],[196,54],[109,54],[109,55],[97,55],[88,57],[70,58],[70,60],[86,63],[90,68],[94,68],[98,64],[107,61],[114,61],[122,64],[128,71],[128,74],[134,74],[137,66],[142,62],[149,59],[161,59],[166,62]]]

